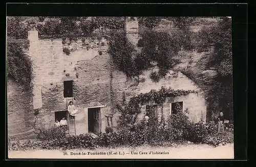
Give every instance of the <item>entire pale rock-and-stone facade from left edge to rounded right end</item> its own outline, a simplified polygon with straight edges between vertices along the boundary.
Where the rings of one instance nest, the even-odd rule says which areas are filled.
[[[126,102],[129,102],[130,98],[138,93],[148,92],[151,89],[158,90],[161,86],[197,90],[199,93],[167,98],[166,103],[158,107],[159,118],[161,115],[167,118],[171,114],[172,103],[183,102],[183,109],[188,108],[192,121],[197,122],[201,117],[205,119],[206,105],[200,89],[181,73],[174,75],[175,72],[170,70],[169,75],[158,83],[154,83],[149,78],[151,69],[148,69],[140,76],[140,78],[145,78],[145,81],[137,83],[135,80],[127,79],[111,63],[110,55],[106,52],[108,45],[105,41],[101,41],[105,42],[104,45],[98,45],[89,50],[78,47],[70,55],[66,55],[62,51],[65,45],[62,44],[61,39],[39,40],[36,33],[36,31],[30,32],[28,53],[35,64],[33,96],[16,89],[16,85],[8,85],[10,88],[8,134],[13,135],[33,130],[33,128],[37,132],[39,128],[54,126],[56,111],[67,110],[67,98],[63,93],[65,81],[73,81],[74,105],[78,109],[75,118],[76,134],[88,132],[88,108],[100,107],[99,128],[101,132],[104,132],[105,127],[108,126],[108,115],[113,115],[112,126],[117,127],[119,117],[118,113],[113,110],[113,106],[121,103],[123,96]],[[15,90],[11,91],[14,88]],[[22,106],[21,109],[20,106]],[[142,106],[143,112],[138,115],[139,119],[143,118],[145,108],[146,104]],[[38,110],[36,116],[33,114],[33,109]]]

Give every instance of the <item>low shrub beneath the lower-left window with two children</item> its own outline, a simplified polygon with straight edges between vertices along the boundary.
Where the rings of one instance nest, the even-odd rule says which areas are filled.
[[[40,140],[52,140],[65,137],[65,129],[60,127],[51,127],[50,129],[40,129],[37,138]]]

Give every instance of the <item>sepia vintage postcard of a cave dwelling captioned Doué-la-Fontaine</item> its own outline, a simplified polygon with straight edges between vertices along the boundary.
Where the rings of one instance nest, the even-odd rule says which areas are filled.
[[[233,159],[231,17],[7,17],[8,158]]]

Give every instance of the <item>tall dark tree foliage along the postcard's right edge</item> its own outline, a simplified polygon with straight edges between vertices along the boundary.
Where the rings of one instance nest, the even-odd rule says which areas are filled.
[[[232,46],[231,19],[221,17],[217,25],[210,29],[208,36],[215,45],[208,67],[215,67],[218,71],[216,84],[211,93],[211,101],[218,99],[219,110],[227,119],[233,119],[233,91],[232,91]]]

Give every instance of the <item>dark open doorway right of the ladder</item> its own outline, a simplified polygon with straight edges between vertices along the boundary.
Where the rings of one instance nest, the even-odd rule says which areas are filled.
[[[100,108],[88,108],[88,131],[99,134],[101,132]]]

